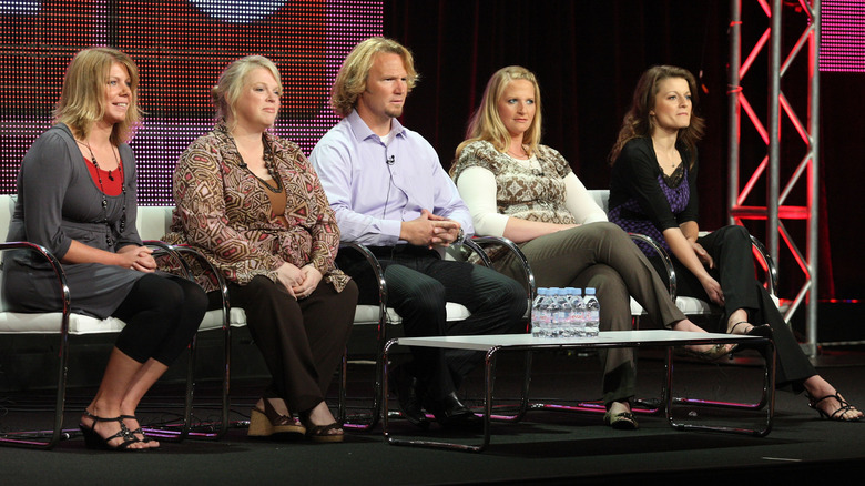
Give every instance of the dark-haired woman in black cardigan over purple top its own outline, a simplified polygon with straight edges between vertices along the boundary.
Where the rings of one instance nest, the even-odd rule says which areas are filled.
[[[723,307],[721,332],[771,335],[780,388],[806,391],[821,417],[858,421],[862,412],[817,374],[756,281],[747,230],[731,225],[699,235],[695,144],[704,121],[692,111],[696,95],[693,74],[682,68],[657,65],[642,74],[610,153],[610,220],[665,247],[679,295]],[[660,265],[658,257],[651,260]]]

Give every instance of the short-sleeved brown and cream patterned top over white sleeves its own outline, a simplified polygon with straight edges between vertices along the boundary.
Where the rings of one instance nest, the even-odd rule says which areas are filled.
[[[564,206],[567,191],[564,176],[571,173],[570,164],[554,149],[538,145],[535,153],[540,171],[526,161],[518,161],[496,150],[487,141],[469,143],[450,169],[458,180],[468,168],[480,166],[496,176],[496,209],[500,214],[529,221],[556,224],[574,224],[577,221]],[[490,259],[496,260],[506,249],[493,249]]]

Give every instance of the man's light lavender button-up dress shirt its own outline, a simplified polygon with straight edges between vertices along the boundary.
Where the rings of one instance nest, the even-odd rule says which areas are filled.
[[[400,225],[419,217],[421,210],[459,222],[466,236],[474,233],[471,214],[432,145],[397,119],[391,119],[385,144],[353,111],[318,141],[309,160],[343,241],[405,243]]]

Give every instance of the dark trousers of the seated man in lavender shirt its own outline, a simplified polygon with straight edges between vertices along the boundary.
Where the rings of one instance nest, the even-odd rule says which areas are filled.
[[[423,246],[370,247],[379,259],[387,282],[387,305],[403,317],[407,336],[507,334],[525,332],[519,324],[528,298],[519,283],[495,270],[466,262],[441,260]],[[378,287],[366,261],[344,252],[337,260],[343,271],[360,285],[360,302],[378,304]],[[464,321],[447,321],[445,304],[462,304],[471,313]],[[482,360],[484,354],[414,347],[411,372],[427,384],[432,398],[441,398]]]

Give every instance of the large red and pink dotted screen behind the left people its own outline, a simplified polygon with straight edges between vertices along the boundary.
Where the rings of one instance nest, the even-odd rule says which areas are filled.
[[[225,65],[248,54],[276,62],[285,93],[273,131],[309,153],[338,121],[327,100],[339,64],[381,21],[380,1],[0,0],[0,193],[16,192],[81,49],[110,45],[139,65],[139,202],[172,204],[174,165],[213,126],[210,90]]]

